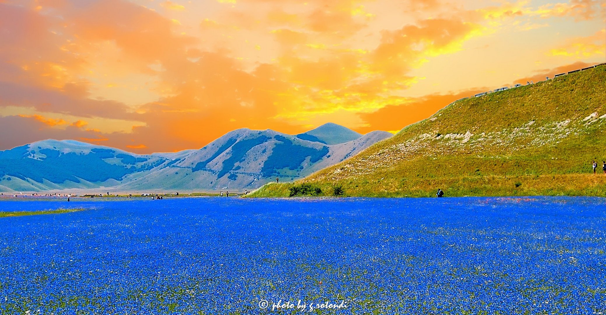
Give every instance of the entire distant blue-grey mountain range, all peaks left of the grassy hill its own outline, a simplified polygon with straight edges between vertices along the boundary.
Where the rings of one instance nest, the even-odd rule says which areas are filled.
[[[324,126],[324,134],[315,134],[331,143],[357,134],[335,124]],[[328,134],[329,130],[337,134]],[[273,130],[239,129],[199,150],[153,154],[73,140],[45,140],[0,151],[0,191],[251,190],[276,177],[293,181],[307,176],[390,136],[373,131],[329,145]]]

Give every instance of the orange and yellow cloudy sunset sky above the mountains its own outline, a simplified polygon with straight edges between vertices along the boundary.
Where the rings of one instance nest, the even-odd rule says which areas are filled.
[[[606,1],[0,0],[0,150],[135,153],[238,128],[397,132],[606,62]]]

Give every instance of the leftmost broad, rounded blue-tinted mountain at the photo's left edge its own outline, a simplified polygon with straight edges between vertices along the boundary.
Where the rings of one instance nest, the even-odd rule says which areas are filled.
[[[45,140],[0,151],[1,191],[113,187],[170,159],[73,140]]]

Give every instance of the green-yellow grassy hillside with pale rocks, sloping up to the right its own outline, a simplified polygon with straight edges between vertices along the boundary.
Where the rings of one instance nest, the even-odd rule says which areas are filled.
[[[337,187],[341,196],[606,196],[604,82],[602,65],[454,102],[340,164],[250,196],[289,196],[303,183],[319,196]]]

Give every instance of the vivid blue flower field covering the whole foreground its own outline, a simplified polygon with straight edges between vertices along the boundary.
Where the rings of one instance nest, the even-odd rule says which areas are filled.
[[[0,218],[1,314],[606,311],[605,199],[101,200],[0,202],[88,209]]]

